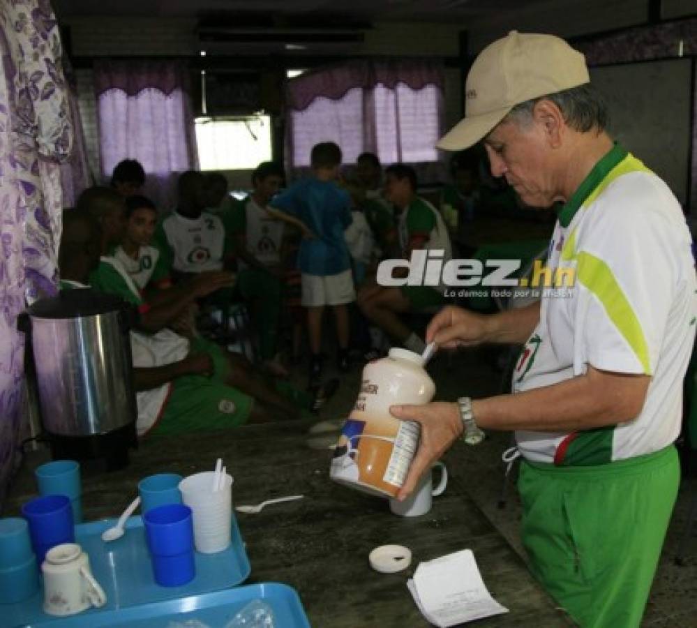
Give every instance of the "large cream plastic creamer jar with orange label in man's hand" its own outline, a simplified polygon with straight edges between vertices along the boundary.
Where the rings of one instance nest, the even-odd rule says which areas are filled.
[[[391,405],[428,403],[435,384],[418,353],[391,349],[368,362],[361,390],[331,460],[331,479],[371,495],[394,497],[419,446],[419,424],[400,421]]]

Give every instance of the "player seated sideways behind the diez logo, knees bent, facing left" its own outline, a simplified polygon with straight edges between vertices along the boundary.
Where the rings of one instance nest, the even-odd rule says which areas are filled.
[[[389,166],[385,174],[385,197],[394,204],[397,213],[400,257],[409,260],[412,251],[427,249],[442,251],[442,259],[447,262],[451,258],[447,227],[435,207],[417,195],[414,169],[395,164]],[[406,276],[406,271],[403,276]],[[393,341],[420,353],[425,348],[424,341],[400,320],[399,315],[442,305],[443,292],[444,286],[440,285],[388,287],[373,280],[359,292],[358,304],[366,318]]]

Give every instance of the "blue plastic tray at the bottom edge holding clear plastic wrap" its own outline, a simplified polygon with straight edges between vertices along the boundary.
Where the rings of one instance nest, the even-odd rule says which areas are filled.
[[[51,628],[167,628],[170,622],[197,620],[209,628],[223,628],[253,599],[262,599],[273,609],[274,628],[310,628],[297,592],[288,585],[261,583],[131,606],[121,610],[103,611],[93,615],[73,615],[51,622]],[[43,625],[43,622],[32,626]]]

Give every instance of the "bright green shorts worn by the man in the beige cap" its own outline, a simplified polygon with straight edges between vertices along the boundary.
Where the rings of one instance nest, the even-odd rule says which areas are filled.
[[[521,463],[530,569],[580,626],[640,625],[679,483],[672,445],[598,466]]]

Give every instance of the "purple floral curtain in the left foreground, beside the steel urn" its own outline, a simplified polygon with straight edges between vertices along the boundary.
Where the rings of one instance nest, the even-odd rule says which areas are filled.
[[[55,294],[60,163],[73,144],[61,40],[50,3],[0,3],[0,499],[22,421],[26,301]]]

